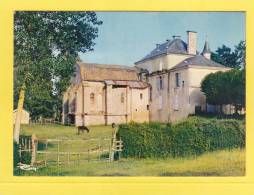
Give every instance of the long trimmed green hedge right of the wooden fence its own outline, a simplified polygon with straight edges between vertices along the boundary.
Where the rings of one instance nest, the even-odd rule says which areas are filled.
[[[124,157],[184,157],[245,146],[244,122],[232,119],[187,119],[172,124],[134,123],[119,126]]]

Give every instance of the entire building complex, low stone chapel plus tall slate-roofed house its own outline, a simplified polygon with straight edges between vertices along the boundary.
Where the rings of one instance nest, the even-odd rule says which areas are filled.
[[[174,122],[199,111],[213,111],[200,85],[227,68],[211,60],[208,41],[197,52],[197,33],[187,43],[173,36],[157,44],[134,67],[81,63],[63,97],[62,122],[110,125],[130,121]]]

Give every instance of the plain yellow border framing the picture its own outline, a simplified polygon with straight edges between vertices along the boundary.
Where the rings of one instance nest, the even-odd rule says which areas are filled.
[[[30,186],[36,189],[39,183],[48,186],[46,189],[56,189],[62,194],[101,192],[114,194],[115,192],[146,194],[171,193],[177,194],[215,194],[217,187],[225,183],[225,189],[230,194],[251,194],[248,183],[254,182],[254,7],[252,0],[9,0],[0,2],[0,194],[18,194],[18,187],[22,184],[22,193]],[[13,94],[13,12],[15,10],[96,10],[96,11],[245,11],[247,34],[247,148],[246,148],[246,176],[244,177],[14,177],[12,171],[12,94]],[[53,185],[53,183],[58,183]],[[64,183],[64,184],[63,184]],[[72,183],[72,184],[71,184]],[[147,184],[148,183],[148,184]],[[182,184],[189,190],[180,187]],[[214,183],[214,184],[211,184]],[[73,187],[72,187],[73,185]],[[86,185],[87,189],[83,189]],[[98,188],[97,186],[104,186]],[[16,189],[16,187],[17,189]],[[61,186],[61,187],[60,187]],[[111,187],[110,187],[111,186]],[[135,186],[139,191],[132,191]],[[143,186],[143,189],[142,189]],[[198,186],[203,186],[199,191]],[[213,186],[216,186],[214,189]],[[224,185],[223,185],[224,186]],[[239,187],[236,187],[239,186]],[[117,187],[117,190],[116,190]],[[158,189],[157,189],[158,187]],[[102,190],[102,189],[104,189]],[[207,188],[207,189],[205,189]],[[2,191],[1,191],[2,189]],[[66,189],[66,190],[65,190]],[[114,191],[114,189],[116,191]],[[130,190],[130,191],[124,191]],[[155,190],[157,189],[157,191]],[[234,190],[236,189],[236,190]],[[242,193],[239,190],[243,190]],[[252,187],[252,189],[254,189]],[[112,191],[113,190],[113,191]],[[154,191],[155,190],[155,191]],[[4,193],[2,193],[4,192]],[[28,191],[27,191],[28,192]],[[37,189],[37,194],[47,193],[47,190]],[[79,192],[79,193],[78,193]],[[153,193],[152,193],[153,192]],[[246,193],[244,193],[246,192]],[[26,193],[27,194],[27,193]],[[252,194],[254,192],[252,191]]]

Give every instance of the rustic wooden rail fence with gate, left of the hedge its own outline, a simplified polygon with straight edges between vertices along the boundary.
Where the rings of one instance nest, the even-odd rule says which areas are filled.
[[[72,143],[81,144],[82,151],[71,150]],[[43,146],[42,146],[43,145]],[[52,147],[54,146],[54,147]],[[93,147],[91,147],[93,146]],[[67,149],[66,149],[67,148]],[[112,162],[118,153],[121,157],[123,149],[122,140],[117,140],[115,134],[112,138],[94,139],[39,139],[23,137],[20,140],[19,153],[31,153],[31,165],[50,166],[63,164],[80,164],[85,162]]]

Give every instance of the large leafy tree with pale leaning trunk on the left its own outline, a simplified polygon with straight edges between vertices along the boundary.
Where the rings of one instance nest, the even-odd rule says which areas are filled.
[[[59,109],[59,103],[53,100],[62,98],[73,75],[78,53],[92,50],[101,24],[94,12],[15,12],[16,142],[19,141],[24,99],[25,107],[41,103],[38,107],[41,106],[45,113],[54,105]]]

